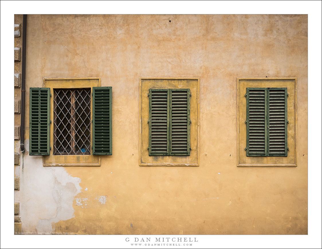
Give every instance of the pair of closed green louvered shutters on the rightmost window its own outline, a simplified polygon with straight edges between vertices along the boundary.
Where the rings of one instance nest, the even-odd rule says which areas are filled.
[[[246,91],[246,155],[287,156],[287,88]]]

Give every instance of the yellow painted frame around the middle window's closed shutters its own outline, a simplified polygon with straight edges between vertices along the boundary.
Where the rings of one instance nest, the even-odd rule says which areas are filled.
[[[190,89],[190,155],[149,156],[149,89]],[[142,77],[139,85],[139,165],[140,166],[199,166],[200,165],[200,78]]]

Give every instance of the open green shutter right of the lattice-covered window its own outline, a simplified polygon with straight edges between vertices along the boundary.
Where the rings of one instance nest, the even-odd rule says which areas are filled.
[[[112,87],[93,87],[93,155],[112,154]]]

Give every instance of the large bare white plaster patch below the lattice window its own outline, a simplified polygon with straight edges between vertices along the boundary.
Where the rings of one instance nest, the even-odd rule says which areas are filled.
[[[81,193],[81,179],[64,167],[44,167],[42,156],[29,156],[28,139],[25,149],[19,200],[23,232],[52,233],[54,223],[74,217],[73,201]]]

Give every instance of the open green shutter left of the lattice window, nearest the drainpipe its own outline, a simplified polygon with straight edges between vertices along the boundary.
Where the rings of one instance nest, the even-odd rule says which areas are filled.
[[[29,154],[49,155],[50,89],[30,88]]]

